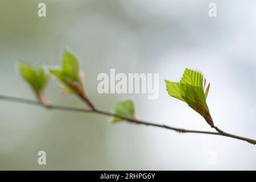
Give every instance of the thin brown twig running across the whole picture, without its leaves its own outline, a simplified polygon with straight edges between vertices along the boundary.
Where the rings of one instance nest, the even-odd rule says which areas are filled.
[[[134,119],[134,118],[127,118],[127,117],[124,117],[122,115],[118,115],[118,114],[109,113],[109,112],[106,112],[106,111],[95,109],[95,107],[92,107],[92,109],[82,109],[82,108],[79,108],[79,107],[68,107],[68,106],[60,106],[60,105],[47,105],[46,106],[46,105],[42,105],[42,103],[40,103],[38,101],[28,100],[26,98],[19,98],[19,97],[13,97],[13,96],[3,96],[3,95],[0,95],[0,100],[11,101],[11,102],[19,102],[19,103],[28,104],[28,105],[42,106],[42,107],[45,107],[46,109],[52,109],[52,110],[76,111],[76,112],[82,112],[82,113],[96,113],[96,114],[101,114],[101,115],[108,115],[108,116],[111,116],[111,117],[117,117],[117,118],[125,119],[127,122],[130,122],[130,123],[136,123],[136,124],[139,124],[139,125],[146,125],[146,126],[160,127],[160,128],[163,128],[163,129],[177,131],[178,133],[197,133],[197,134],[220,135],[220,136],[224,136],[224,137],[230,137],[230,138],[243,140],[243,141],[249,142],[251,144],[256,144],[256,140],[254,140],[254,139],[240,137],[240,136],[237,136],[237,135],[226,133],[226,132],[218,129],[218,127],[216,127],[216,126],[214,126],[213,128],[217,132],[185,130],[185,129],[180,129],[180,128],[171,127],[171,126],[167,126],[167,125],[160,125],[158,123],[141,121],[141,120],[137,120],[137,119]]]

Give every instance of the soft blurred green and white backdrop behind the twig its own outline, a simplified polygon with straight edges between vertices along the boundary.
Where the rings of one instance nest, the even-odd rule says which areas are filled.
[[[38,3],[47,16],[38,16]],[[216,3],[217,17],[208,15]],[[112,111],[132,99],[139,118],[185,129],[212,131],[199,114],[168,96],[164,79],[179,81],[185,68],[211,83],[208,106],[222,130],[256,138],[256,2],[177,0],[0,0],[0,94],[34,99],[16,61],[57,65],[64,48],[80,60],[86,92]],[[98,94],[97,76],[159,73],[159,98],[147,94]],[[53,104],[85,105],[61,96]],[[38,165],[38,151],[47,165]],[[215,162],[211,162],[212,159]],[[178,134],[102,115],[48,111],[0,101],[0,169],[233,170],[256,169],[256,146],[226,137]]]

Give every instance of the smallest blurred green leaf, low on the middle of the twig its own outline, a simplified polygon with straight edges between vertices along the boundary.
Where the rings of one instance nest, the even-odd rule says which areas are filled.
[[[117,105],[115,105],[115,114],[122,115],[123,117],[127,118],[134,118],[135,109],[133,101],[127,100],[118,102]],[[114,117],[112,122],[119,122],[123,121],[125,119]]]

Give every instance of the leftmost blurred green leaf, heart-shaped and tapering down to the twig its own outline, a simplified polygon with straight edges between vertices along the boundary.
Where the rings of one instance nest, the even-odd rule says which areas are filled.
[[[48,82],[48,76],[42,67],[33,68],[23,61],[18,62],[20,75],[28,82],[34,92],[40,96]]]

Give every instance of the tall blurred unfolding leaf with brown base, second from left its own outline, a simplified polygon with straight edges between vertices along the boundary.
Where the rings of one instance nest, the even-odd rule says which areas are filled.
[[[49,72],[66,86],[64,93],[73,92],[81,97],[85,96],[84,85],[79,73],[79,62],[72,53],[64,51],[61,69],[49,69]]]

